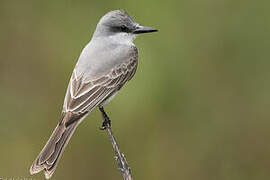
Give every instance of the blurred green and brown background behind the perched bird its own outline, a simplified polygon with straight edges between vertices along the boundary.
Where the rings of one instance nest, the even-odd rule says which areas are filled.
[[[270,1],[1,0],[0,177],[29,167],[58,122],[68,80],[101,16],[126,10],[139,67],[107,106],[137,180],[270,179]],[[122,179],[95,110],[52,179]]]

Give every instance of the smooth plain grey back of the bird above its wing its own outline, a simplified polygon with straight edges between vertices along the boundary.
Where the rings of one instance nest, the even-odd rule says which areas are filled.
[[[107,74],[114,67],[130,60],[134,46],[109,42],[91,41],[82,51],[75,71],[87,81]]]

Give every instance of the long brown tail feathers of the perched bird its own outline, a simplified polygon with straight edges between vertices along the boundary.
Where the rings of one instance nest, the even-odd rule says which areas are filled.
[[[36,174],[44,169],[46,179],[51,178],[57,163],[78,124],[79,122],[76,121],[68,127],[66,127],[64,123],[59,123],[57,125],[50,139],[38,155],[37,159],[33,162],[30,168],[31,174]]]

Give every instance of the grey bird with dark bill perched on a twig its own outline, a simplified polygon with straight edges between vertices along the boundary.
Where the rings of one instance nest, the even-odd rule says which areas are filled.
[[[30,174],[44,170],[45,178],[51,178],[82,120],[95,108],[107,117],[104,106],[136,72],[138,49],[134,39],[138,34],[156,31],[136,23],[124,10],[110,11],[99,20],[72,72],[59,122],[30,167]],[[102,129],[108,123],[105,118]]]

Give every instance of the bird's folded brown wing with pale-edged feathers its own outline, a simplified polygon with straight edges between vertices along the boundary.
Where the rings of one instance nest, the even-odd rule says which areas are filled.
[[[135,74],[137,62],[138,52],[134,47],[128,61],[95,80],[86,81],[82,76],[77,77],[75,69],[67,89],[62,113],[62,117],[65,117],[66,112],[71,112],[72,116],[61,118],[60,122],[72,124],[118,91]]]

